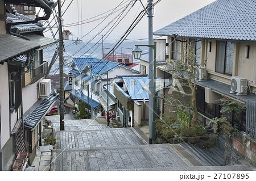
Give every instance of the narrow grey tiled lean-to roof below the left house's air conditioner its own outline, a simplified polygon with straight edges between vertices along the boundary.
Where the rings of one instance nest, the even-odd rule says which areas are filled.
[[[24,118],[24,128],[26,129],[33,129],[42,119],[42,117],[47,113],[47,110],[50,106],[55,102],[58,98],[59,94],[57,95],[48,95],[43,101],[32,111],[27,117]]]

